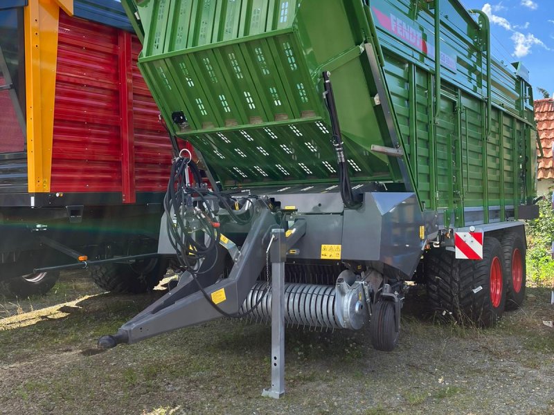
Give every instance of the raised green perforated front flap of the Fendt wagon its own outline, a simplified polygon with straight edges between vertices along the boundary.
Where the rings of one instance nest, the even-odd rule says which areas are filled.
[[[168,125],[225,185],[335,183],[331,72],[352,181],[400,181],[370,91],[360,1],[144,0],[139,66]],[[172,122],[182,111],[188,124]],[[377,118],[381,118],[380,122]]]

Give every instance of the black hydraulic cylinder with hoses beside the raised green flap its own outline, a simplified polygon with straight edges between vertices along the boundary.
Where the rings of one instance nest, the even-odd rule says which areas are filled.
[[[337,115],[337,107],[334,103],[333,89],[329,79],[330,73],[323,72],[323,82],[325,85],[325,104],[329,111],[331,126],[333,132],[333,147],[337,154],[337,165],[339,172],[339,188],[344,205],[350,209],[357,209],[361,203],[355,199],[350,185],[350,175],[348,174],[348,165],[346,164],[346,156],[344,155],[344,146],[341,136],[341,127],[339,125],[339,116]]]

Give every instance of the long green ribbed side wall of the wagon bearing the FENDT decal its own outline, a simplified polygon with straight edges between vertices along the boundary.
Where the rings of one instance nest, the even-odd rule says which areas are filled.
[[[447,226],[465,225],[466,210],[480,212],[473,220],[484,223],[517,218],[517,205],[533,195],[530,86],[492,60],[488,135],[487,62],[475,42],[484,34],[461,3],[440,1],[442,95],[435,120],[434,2],[373,0],[370,10],[422,208],[444,211]]]

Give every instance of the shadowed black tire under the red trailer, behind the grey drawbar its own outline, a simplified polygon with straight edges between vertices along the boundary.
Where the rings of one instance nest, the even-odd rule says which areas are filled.
[[[137,266],[139,264],[139,266]],[[166,273],[163,259],[146,259],[137,264],[105,264],[93,266],[89,275],[102,290],[111,293],[141,294],[152,291]]]

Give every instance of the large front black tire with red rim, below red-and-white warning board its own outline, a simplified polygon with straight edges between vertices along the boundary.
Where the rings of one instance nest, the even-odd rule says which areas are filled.
[[[426,255],[427,295],[438,312],[460,322],[494,326],[506,304],[506,268],[498,239],[485,237],[483,259],[456,259],[454,252],[431,250]],[[492,268],[494,264],[494,277]],[[491,282],[494,284],[491,286]]]

